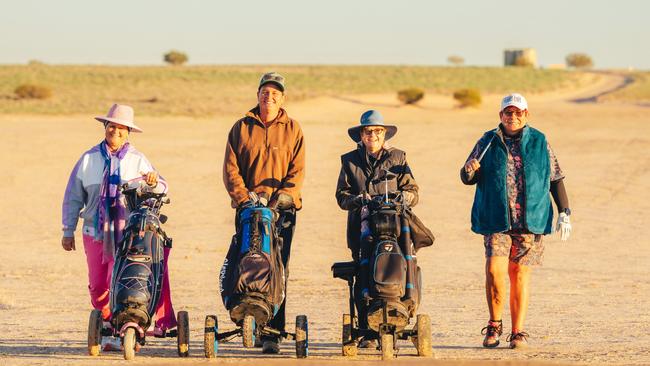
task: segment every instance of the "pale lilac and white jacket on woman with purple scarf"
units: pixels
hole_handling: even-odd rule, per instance
[[[111,156],[111,159],[118,160],[116,156]],[[138,178],[142,176],[142,173],[154,171],[149,160],[143,153],[136,150],[133,145],[128,147],[126,155],[119,161],[119,164],[121,183]],[[99,209],[103,172],[104,158],[99,145],[81,155],[74,169],[72,169],[68,186],[65,189],[65,196],[63,197],[64,237],[74,236],[77,222],[81,217],[84,220],[83,234],[93,236],[96,240],[102,240],[103,233],[95,232],[95,218]],[[159,176],[158,181],[163,184],[158,184],[154,191],[166,190],[167,183],[164,179]],[[124,196],[120,195],[119,199],[124,200]]]

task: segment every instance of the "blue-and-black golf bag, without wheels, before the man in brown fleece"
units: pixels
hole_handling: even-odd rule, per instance
[[[241,325],[251,314],[267,324],[284,300],[282,238],[275,213],[259,202],[238,210],[233,236],[219,275],[219,291],[230,318]]]

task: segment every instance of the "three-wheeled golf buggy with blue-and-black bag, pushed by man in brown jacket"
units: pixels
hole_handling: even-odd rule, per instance
[[[282,227],[277,213],[251,194],[252,204],[237,213],[237,233],[233,236],[219,276],[221,298],[236,328],[220,331],[216,315],[205,318],[205,357],[216,357],[219,343],[242,337],[245,348],[261,347],[265,336],[296,342],[296,356],[309,351],[307,316],[296,317],[295,333],[270,325],[285,296],[282,264]]]

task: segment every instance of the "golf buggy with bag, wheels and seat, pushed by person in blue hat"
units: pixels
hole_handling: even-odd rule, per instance
[[[377,339],[384,360],[394,357],[399,339],[411,340],[419,356],[433,353],[429,316],[418,314],[415,325],[408,327],[421,299],[422,279],[407,210],[399,193],[365,202],[361,208],[359,260],[332,265],[334,278],[346,281],[350,294],[349,312],[343,314],[344,356],[357,355],[362,338]],[[355,281],[362,289],[357,291],[361,299],[355,299]],[[367,309],[367,329],[359,327],[355,301]]]

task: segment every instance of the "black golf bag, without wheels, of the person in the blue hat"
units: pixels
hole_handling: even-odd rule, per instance
[[[374,199],[361,209],[359,281],[373,330],[384,322],[384,306],[388,322],[401,329],[420,304],[422,277],[407,209],[394,199]]]

